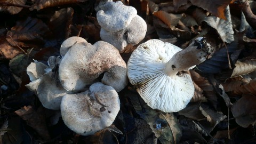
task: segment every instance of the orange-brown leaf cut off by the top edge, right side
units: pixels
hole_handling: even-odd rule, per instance
[[[219,17],[221,19],[226,19],[225,16],[225,9],[226,7],[232,3],[234,0],[209,0],[209,1],[204,1],[204,0],[190,0],[190,2],[193,5],[196,5],[198,7],[201,7],[216,17]]]

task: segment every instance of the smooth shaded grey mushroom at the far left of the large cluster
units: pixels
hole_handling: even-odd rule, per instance
[[[67,91],[55,84],[54,73],[51,71],[42,75],[36,81],[26,85],[30,91],[36,91],[42,105],[48,109],[59,110],[60,102]]]

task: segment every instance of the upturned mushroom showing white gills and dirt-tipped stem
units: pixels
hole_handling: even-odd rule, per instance
[[[127,63],[127,75],[143,100],[153,109],[166,113],[185,108],[194,95],[194,85],[188,74],[206,60],[212,52],[209,43],[199,37],[185,50],[158,39],[140,44]]]

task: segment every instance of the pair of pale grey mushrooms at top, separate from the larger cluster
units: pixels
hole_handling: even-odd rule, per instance
[[[123,51],[128,44],[138,44],[146,35],[147,24],[137,15],[137,10],[122,2],[106,2],[99,5],[97,20],[101,26],[102,41]]]

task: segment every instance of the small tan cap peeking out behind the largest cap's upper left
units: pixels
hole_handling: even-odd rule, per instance
[[[67,51],[70,49],[71,46],[77,43],[87,42],[84,38],[73,36],[67,38],[65,41],[62,42],[60,47],[60,55],[63,57]]]

